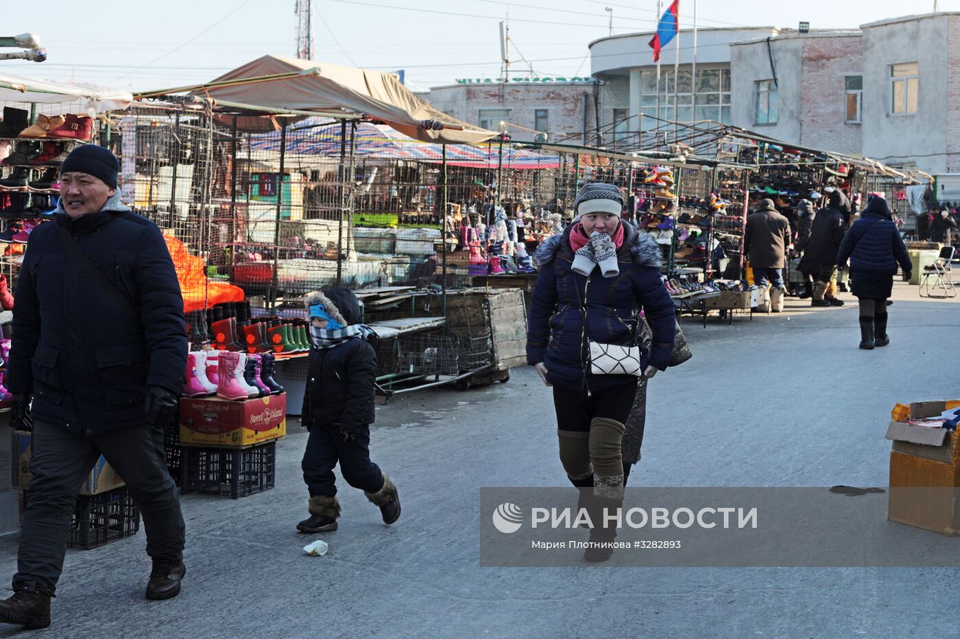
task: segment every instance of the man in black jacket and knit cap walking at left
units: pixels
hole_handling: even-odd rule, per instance
[[[33,473],[13,596],[0,621],[50,624],[77,493],[104,455],[143,515],[148,599],[180,592],[183,517],[163,455],[188,350],[173,260],[155,224],[117,193],[119,163],[84,145],[60,167],[55,221],[30,236],[16,288],[8,389],[33,394]]]

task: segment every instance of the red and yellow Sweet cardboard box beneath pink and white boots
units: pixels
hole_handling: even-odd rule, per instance
[[[287,434],[287,395],[180,400],[180,444],[245,447]]]

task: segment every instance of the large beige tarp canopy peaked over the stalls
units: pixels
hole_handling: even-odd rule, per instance
[[[337,111],[382,120],[408,137],[424,142],[465,144],[484,142],[498,135],[446,115],[415,95],[392,73],[326,64],[316,60],[264,56],[212,81],[221,83],[317,69],[272,82],[207,87],[193,95],[223,102],[273,108],[277,111]],[[462,128],[434,129],[433,125]]]

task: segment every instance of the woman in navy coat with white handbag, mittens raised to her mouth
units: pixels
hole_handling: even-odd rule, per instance
[[[660,279],[660,246],[620,219],[623,197],[612,184],[584,186],[574,202],[577,217],[545,240],[534,257],[540,272],[527,329],[527,361],[553,387],[560,461],[570,483],[615,508],[625,475],[622,440],[639,375],[652,378],[670,362],[676,319]],[[643,309],[653,334],[639,348],[636,374],[594,374],[589,343],[638,346]],[[596,510],[594,510],[596,513]],[[591,541],[612,540],[591,516]],[[589,547],[590,561],[609,548]]]

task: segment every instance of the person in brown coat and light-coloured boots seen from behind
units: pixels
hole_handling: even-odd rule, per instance
[[[786,251],[792,246],[790,221],[780,215],[773,200],[761,200],[759,207],[747,218],[743,246],[750,256],[754,270],[754,283],[770,291],[770,310],[780,313],[783,309],[783,267],[786,266]]]

